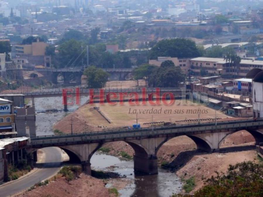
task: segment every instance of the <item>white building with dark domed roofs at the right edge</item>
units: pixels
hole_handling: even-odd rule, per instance
[[[252,79],[253,117],[263,118],[263,69],[250,70],[247,78]]]

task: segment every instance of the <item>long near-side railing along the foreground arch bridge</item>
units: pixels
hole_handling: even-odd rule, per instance
[[[247,127],[255,127],[255,126],[263,126],[263,122],[250,122],[250,123],[238,123],[238,124],[215,125],[215,126],[204,126],[204,127],[178,128],[178,129],[170,129],[170,130],[156,130],[156,131],[147,131],[147,132],[71,137],[71,138],[61,138],[61,139],[51,139],[51,140],[33,140],[31,141],[31,145],[37,146],[37,145],[48,145],[48,144],[91,142],[97,140],[116,140],[123,138],[153,137],[153,136],[172,135],[172,134],[185,135],[187,133],[204,132],[208,130],[214,131],[214,130],[222,130],[222,129],[247,128]]]

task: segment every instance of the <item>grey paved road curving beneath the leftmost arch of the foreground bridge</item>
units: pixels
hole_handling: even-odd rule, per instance
[[[14,195],[32,185],[55,175],[61,166],[62,156],[61,149],[56,147],[47,147],[42,149],[45,153],[45,159],[42,167],[32,175],[20,179],[16,182],[0,186],[0,197]]]

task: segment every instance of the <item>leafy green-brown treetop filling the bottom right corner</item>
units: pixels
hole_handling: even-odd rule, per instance
[[[194,195],[174,194],[172,197],[239,197],[263,196],[263,165],[251,161],[230,165],[226,174],[212,176]]]

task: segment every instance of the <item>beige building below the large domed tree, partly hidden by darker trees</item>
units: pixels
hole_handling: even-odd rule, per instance
[[[183,73],[188,74],[190,69],[190,60],[187,58],[177,58],[177,57],[158,57],[157,60],[149,60],[149,64],[160,67],[161,64],[167,60],[174,63],[175,66],[179,66]]]

